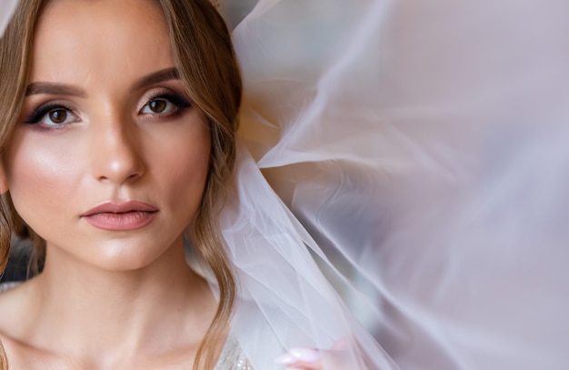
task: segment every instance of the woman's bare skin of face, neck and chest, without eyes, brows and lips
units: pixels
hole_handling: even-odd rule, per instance
[[[174,67],[162,14],[150,1],[55,0],[33,52],[30,83],[76,91],[26,96],[2,158],[0,187],[47,245],[44,272],[0,295],[11,369],[188,368],[216,309],[182,238],[210,139],[195,107],[149,108],[155,93],[184,96],[176,79],[141,85]],[[24,123],[47,102],[65,105],[52,115],[63,124]],[[108,231],[82,216],[128,200],[153,205],[153,221]]]

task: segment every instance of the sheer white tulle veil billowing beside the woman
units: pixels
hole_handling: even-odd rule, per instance
[[[255,369],[342,339],[349,369],[567,368],[569,3],[220,3]]]

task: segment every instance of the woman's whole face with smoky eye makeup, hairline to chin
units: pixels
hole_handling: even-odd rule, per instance
[[[194,219],[209,153],[154,2],[49,3],[3,158],[15,208],[45,238],[48,258],[151,264]]]

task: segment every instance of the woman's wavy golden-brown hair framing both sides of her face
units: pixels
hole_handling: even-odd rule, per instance
[[[210,265],[219,285],[219,305],[198,348],[194,369],[212,369],[235,302],[235,278],[217,225],[224,186],[235,165],[235,131],[242,83],[231,38],[223,18],[207,0],[154,0],[170,32],[175,65],[187,94],[209,124],[212,148],[193,247]],[[0,39],[0,155],[10,140],[25,97],[35,24],[49,0],[22,0]],[[35,261],[45,255],[45,241],[15,211],[9,192],[0,205],[0,271],[4,271],[12,233],[31,237]],[[4,363],[3,363],[4,361]],[[5,355],[0,345],[0,366]],[[5,368],[2,366],[2,368]]]

